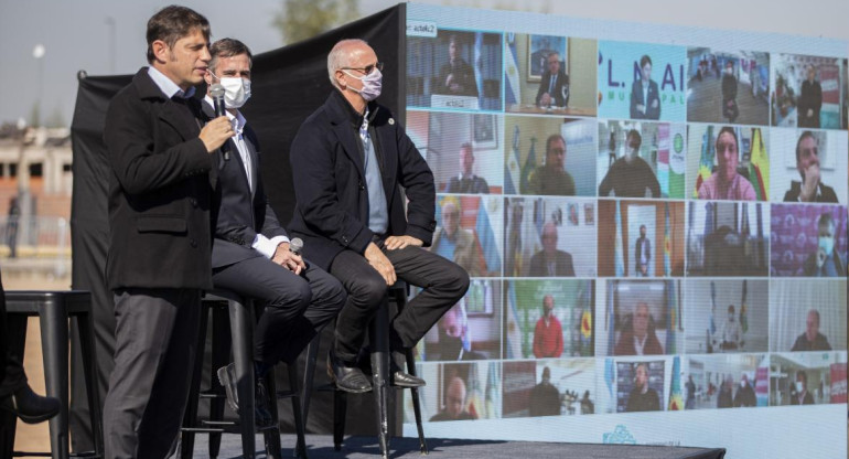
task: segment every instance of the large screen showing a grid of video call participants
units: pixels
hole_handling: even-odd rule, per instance
[[[418,4],[408,9],[408,26],[430,23],[439,31],[455,35],[454,39],[439,36],[443,36],[440,41],[445,46],[451,46],[452,41],[454,46],[459,43],[460,55],[471,64],[476,56],[485,54],[480,47],[484,40],[475,36],[477,32],[501,34],[503,47],[502,72],[497,78],[492,77],[492,72],[483,75],[485,72],[475,73],[472,68],[471,79],[480,96],[476,103],[469,95],[456,96],[455,100],[450,94],[440,95],[439,106],[421,103],[421,98],[410,104],[408,97],[408,134],[437,179],[438,233],[443,237],[451,232],[456,235],[448,250],[441,247],[442,255],[453,254],[455,261],[461,266],[465,264],[473,273],[473,284],[490,282],[495,286],[490,291],[501,292],[499,299],[490,299],[491,305],[486,305],[479,288],[475,298],[464,299],[452,309],[448,314],[450,323],[434,325],[429,338],[422,340],[419,350],[427,359],[419,367],[432,376],[429,382],[436,382],[423,393],[426,418],[615,414],[627,412],[628,406],[631,410],[649,412],[782,406],[792,405],[794,396],[798,403],[807,403],[794,388],[795,380],[804,378],[816,385],[810,391],[814,404],[842,404],[845,413],[848,168],[845,107],[849,93],[845,43],[777,34],[742,34],[746,40],[741,40],[738,32],[657,25],[651,26],[652,34],[645,34],[649,30],[647,24],[527,13],[479,13]],[[470,18],[479,15],[485,18],[480,20],[484,26],[470,25],[475,24]],[[440,21],[422,21],[428,17],[439,17]],[[531,20],[533,30],[527,30],[529,21],[523,19]],[[443,29],[439,29],[441,24]],[[654,64],[648,72],[649,79],[657,78],[659,93],[665,90],[667,76],[675,81],[675,90],[684,88],[683,104],[676,98],[680,107],[667,109],[660,105],[656,117],[647,116],[645,113],[651,110],[645,106],[636,107],[642,110],[635,115],[630,100],[632,93],[649,100],[646,105],[651,107],[651,84],[640,88],[642,90],[634,89],[630,83],[622,85],[627,93],[627,97],[622,96],[624,102],[617,102],[622,106],[606,109],[604,100],[598,102],[603,99],[598,87],[604,79],[617,83],[617,75],[633,72],[634,84],[640,84],[636,78],[641,76],[642,55],[626,56],[634,63],[622,71],[615,61],[605,62],[599,53],[610,47],[615,57],[626,54],[628,47],[640,49],[640,43],[628,43],[632,39],[624,36],[626,31],[641,36],[638,42],[645,42],[643,49],[677,49],[678,55],[660,58],[646,54]],[[599,36],[600,32],[605,36]],[[465,39],[458,40],[456,35]],[[673,40],[662,40],[665,35]],[[546,41],[546,38],[562,40]],[[408,43],[410,39],[408,32]],[[417,43],[427,39],[416,36]],[[657,44],[649,44],[652,41]],[[591,77],[581,76],[577,65],[587,62],[588,42],[594,42],[593,55],[599,62]],[[493,43],[491,38],[488,43]],[[539,57],[539,51],[546,46],[557,56],[531,62],[531,56],[536,53]],[[759,51],[764,49],[775,51]],[[449,58],[450,53],[438,51],[434,55]],[[823,73],[824,92],[828,95],[824,96],[819,111],[820,119],[828,118],[828,121],[820,120],[820,126],[812,127],[810,121],[797,119],[789,125],[786,94],[800,92],[802,77],[795,84],[783,82],[784,95],[775,96],[775,66],[793,62],[795,76],[800,74],[796,66],[827,62],[829,58],[823,57],[827,54],[840,56],[830,60],[838,62],[837,71],[831,65]],[[410,53],[407,57],[413,58]],[[407,68],[411,65],[415,64],[408,63]],[[550,81],[555,70],[569,76],[568,90],[557,87],[560,78]],[[698,77],[701,79],[696,88]],[[728,87],[737,84],[738,96],[731,105],[723,104],[723,78]],[[817,71],[814,81],[819,79]],[[544,81],[548,81],[547,88],[554,92],[548,106],[536,100],[539,93],[547,93],[540,87]],[[579,88],[585,92],[588,81],[597,85],[590,94],[592,97],[572,92]],[[806,86],[808,93],[810,85]],[[501,99],[495,104],[499,108],[491,109],[493,103],[483,99],[492,95],[495,87],[499,89]],[[518,95],[511,96],[514,87],[518,88]],[[563,102],[566,94],[569,102]],[[837,104],[834,104],[835,94]],[[561,100],[557,100],[558,96]],[[696,96],[701,97],[690,104],[690,97]],[[798,98],[800,94],[795,96]],[[781,104],[774,104],[780,97],[783,97]],[[593,104],[587,104],[588,99]],[[667,94],[662,102],[666,104],[669,99]],[[797,105],[798,100],[793,104]],[[570,105],[577,108],[571,109]],[[783,124],[773,120],[773,111],[780,114]],[[722,129],[726,126],[732,128],[731,132]],[[559,151],[552,151],[551,163],[562,163],[562,167],[549,170],[546,169],[548,150],[560,149],[557,136],[565,140],[566,158],[559,159]],[[720,136],[727,141],[717,142]],[[726,148],[731,138],[738,154],[733,161],[728,158],[720,161],[717,147],[722,143]],[[554,148],[549,148],[552,143]],[[638,146],[631,148],[631,143]],[[806,164],[802,164],[799,154],[809,157],[812,148],[818,150],[814,150],[815,154],[819,153],[816,172],[825,185],[817,195],[832,199],[831,203],[800,204],[788,199],[794,193],[797,195],[803,185]],[[631,158],[626,158],[628,154]],[[625,166],[642,160],[645,167],[638,172],[634,172],[636,168],[614,168],[626,159],[630,161]],[[576,164],[580,164],[577,172],[572,169]],[[709,193],[699,195],[705,182],[718,183],[723,169],[737,179],[737,186],[724,194],[720,186],[713,186]],[[563,170],[571,175],[561,180],[569,186],[560,182],[557,186],[546,186],[539,179],[534,180],[535,175],[562,179]],[[619,177],[638,174],[646,179],[646,184],[626,183],[620,186],[621,195],[615,192],[602,195],[601,185],[611,170]],[[624,175],[620,171],[625,171]],[[481,209],[485,216],[477,212]],[[445,221],[444,211],[456,216]],[[818,237],[818,221],[824,214],[829,214],[825,220],[830,223],[824,226],[826,233],[832,226],[831,247],[832,254],[837,254],[830,258],[842,258],[843,275],[815,280],[817,274],[809,268],[817,267],[812,256],[819,248],[819,239],[824,239]],[[644,243],[636,245],[644,227],[652,252],[647,263],[638,259]],[[583,238],[576,241],[576,234]],[[551,256],[546,257],[546,243],[550,245],[551,241],[555,241],[548,250]],[[591,258],[594,260],[585,261]],[[726,258],[733,261],[724,261]],[[835,275],[835,269],[839,271],[839,265],[834,269],[820,267],[820,274]],[[578,292],[587,290],[580,286],[588,282],[592,284],[592,295]],[[643,289],[646,293],[640,295],[646,301],[628,301],[617,288]],[[652,293],[653,289],[657,291]],[[776,292],[781,292],[781,298],[776,298]],[[815,299],[810,300],[812,297]],[[651,305],[641,305],[645,302]],[[800,302],[807,305],[802,307]],[[535,337],[547,303],[554,305],[552,317],[562,330],[557,356],[546,356],[545,350],[540,350],[546,348],[542,344],[551,338],[550,333],[540,332],[545,337],[539,342]],[[646,317],[647,323],[644,323]],[[810,322],[817,321],[819,324],[812,327]],[[549,327],[552,322],[549,321]],[[813,328],[818,331],[810,333],[813,340],[806,341]],[[496,332],[496,329],[499,330]],[[651,352],[640,355],[632,350],[634,345],[617,346],[623,334],[632,338],[635,330],[642,332],[643,329],[652,339],[642,343],[642,351],[649,349]],[[476,337],[483,337],[481,345],[476,344]],[[637,343],[638,340],[635,344],[640,348]],[[625,353],[616,352],[617,348]],[[773,355],[777,363],[771,362]],[[817,360],[817,355],[820,362],[806,363]],[[462,370],[452,370],[463,364]],[[641,397],[642,404],[627,403],[628,394],[637,385],[637,371],[644,372],[637,370],[641,364],[649,366],[648,387],[658,394],[657,405],[651,396]],[[541,395],[546,391],[537,386],[544,378],[569,380],[571,376],[566,376],[570,374],[569,369],[581,369],[579,373],[584,376],[574,380],[573,387],[556,383],[559,413],[540,412],[539,401],[546,399]],[[791,373],[786,369],[791,369]],[[807,369],[810,371],[805,372]],[[620,370],[622,374],[616,376]],[[782,376],[781,371],[786,374]],[[461,382],[456,382],[458,375],[463,376]],[[696,387],[694,401],[687,397],[689,376],[694,376]],[[734,393],[740,392],[737,388],[743,386],[743,376],[749,384],[740,399],[734,401]],[[724,387],[729,380],[730,402],[726,399]],[[451,417],[447,401],[459,392],[465,396],[465,410],[456,414],[460,417]],[[719,394],[722,394],[721,403]],[[407,398],[406,405],[409,403]],[[470,409],[473,413],[468,413]],[[411,421],[410,415],[411,409],[407,409],[405,423]],[[469,423],[462,425],[466,427],[452,431],[453,436],[464,431],[466,438],[471,438],[470,435],[486,437]],[[597,430],[590,428],[590,431]],[[705,441],[691,433],[675,435],[695,442]],[[577,439],[601,441],[601,434]]]

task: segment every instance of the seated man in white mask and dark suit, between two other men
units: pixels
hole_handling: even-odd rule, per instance
[[[235,136],[216,158],[218,181],[212,200],[212,273],[215,288],[234,291],[266,305],[255,331],[256,417],[270,421],[262,376],[276,363],[291,363],[312,338],[333,320],[345,302],[345,290],[333,276],[300,256],[294,239],[268,204],[259,174],[259,143],[239,108],[250,97],[250,50],[238,40],[222,39],[209,49],[204,113],[223,111]],[[219,94],[223,93],[223,94]],[[213,97],[217,96],[217,100]],[[215,111],[214,111],[215,110]],[[235,367],[218,370],[230,407],[235,401]]]

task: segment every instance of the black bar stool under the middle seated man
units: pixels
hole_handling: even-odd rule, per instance
[[[298,434],[295,453],[307,458],[303,420],[301,418],[300,387],[298,387],[298,366],[288,365],[290,389],[277,392],[275,388],[275,371],[266,375],[266,387],[269,394],[275,394],[270,401],[272,425],[257,427],[254,420],[254,324],[256,323],[256,307],[250,299],[230,292],[216,290],[207,293],[201,309],[201,330],[198,334],[197,355],[195,356],[192,386],[189,403],[183,417],[181,457],[192,458],[195,434],[209,434],[209,457],[216,458],[221,450],[222,434],[241,434],[243,457],[255,457],[255,435],[261,431],[265,437],[266,453],[269,458],[281,458],[280,428],[278,425],[277,398],[291,397],[294,413],[294,424]],[[201,393],[203,374],[203,351],[206,342],[206,324],[213,314],[212,337],[212,381],[209,389]],[[260,312],[261,313],[261,312]],[[226,323],[229,321],[229,333]],[[226,394],[215,372],[229,362],[229,349],[233,346],[233,361],[236,369],[237,393],[239,399],[239,420],[227,421],[224,418]],[[209,418],[197,419],[200,398],[209,398]]]

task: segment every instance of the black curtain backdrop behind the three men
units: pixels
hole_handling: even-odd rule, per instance
[[[333,90],[326,71],[327,53],[337,41],[343,39],[367,41],[377,53],[378,60],[386,63],[380,103],[393,110],[398,119],[404,119],[401,103],[404,100],[402,82],[406,74],[405,31],[406,6],[401,3],[313,39],[254,57],[252,96],[243,113],[259,137],[264,161],[260,164],[260,173],[271,206],[282,222],[291,218],[294,209],[292,171],[289,166],[289,148],[292,139],[301,122],[321,106]],[[112,295],[105,285],[109,232],[107,195],[111,172],[106,160],[103,128],[109,100],[120,88],[129,84],[132,75],[80,77],[71,127],[74,153],[71,210],[72,287],[92,291],[101,403],[108,388],[109,373],[114,367],[115,349]],[[327,328],[322,334],[322,351],[316,371],[318,384],[326,382],[324,357],[331,339],[332,331]],[[86,451],[93,449],[93,440],[87,421],[85,380],[76,335],[72,337],[72,349],[73,449]],[[301,370],[303,359],[304,355],[299,362]],[[281,378],[284,373],[278,371],[278,378]],[[205,365],[204,376],[205,381],[209,381],[208,364]],[[287,386],[288,384],[283,381],[278,382],[278,387]],[[332,431],[333,412],[330,394],[330,392],[312,392],[308,431]],[[376,429],[370,396],[350,397],[348,404],[347,433],[374,435]],[[280,408],[282,428],[293,430],[290,404],[280,404]],[[202,405],[201,412],[206,412],[205,405]]]

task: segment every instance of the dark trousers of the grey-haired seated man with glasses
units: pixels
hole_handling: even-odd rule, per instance
[[[420,247],[398,250],[381,249],[395,267],[399,279],[423,290],[391,319],[389,339],[394,349],[412,348],[469,289],[469,274],[451,260]],[[352,362],[368,330],[375,312],[387,301],[384,278],[362,255],[343,250],[330,267],[348,292],[345,307],[336,320],[336,356]]]

